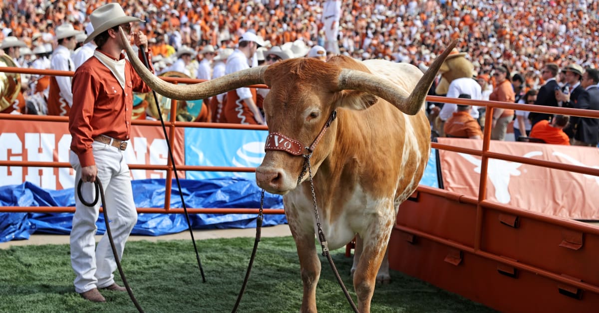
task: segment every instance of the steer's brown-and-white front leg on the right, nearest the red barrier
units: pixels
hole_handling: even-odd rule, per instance
[[[362,236],[362,255],[358,268],[353,273],[353,287],[358,296],[358,310],[370,312],[370,300],[376,285],[377,272],[385,257],[389,236],[394,223],[394,215],[385,214],[385,209],[377,209],[378,216],[373,220]],[[389,215],[389,216],[385,216]]]

